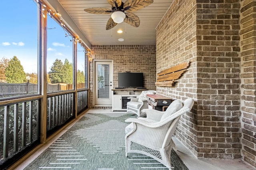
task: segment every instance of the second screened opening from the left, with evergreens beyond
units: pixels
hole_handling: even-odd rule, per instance
[[[47,92],[73,90],[73,38],[53,18],[46,29]]]

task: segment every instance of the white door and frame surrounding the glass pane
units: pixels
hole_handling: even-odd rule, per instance
[[[97,69],[97,63],[104,63],[106,62],[106,64],[110,64],[110,68],[109,68],[109,80],[110,80],[110,84],[109,84],[109,100],[105,100],[106,103],[101,103],[101,104],[98,104],[96,102],[97,100],[97,81],[98,81],[98,78],[95,78],[96,77],[96,69]],[[96,105],[99,105],[99,106],[111,106],[112,105],[112,89],[113,89],[113,60],[111,59],[95,59],[93,60],[93,105],[96,106]],[[98,101],[98,100],[97,100]]]

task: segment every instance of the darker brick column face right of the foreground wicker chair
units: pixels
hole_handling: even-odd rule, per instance
[[[239,0],[197,2],[198,158],[240,158]]]

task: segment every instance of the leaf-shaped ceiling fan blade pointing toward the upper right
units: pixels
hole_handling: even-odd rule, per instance
[[[124,2],[124,10],[126,12],[134,12],[152,3],[153,0],[127,0],[126,2]]]

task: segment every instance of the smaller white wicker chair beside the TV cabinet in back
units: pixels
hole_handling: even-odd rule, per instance
[[[137,97],[129,97],[128,99],[130,99],[130,102],[127,102],[127,112],[135,113],[140,116],[142,109],[148,109],[147,94],[156,94],[156,91],[144,90]]]

